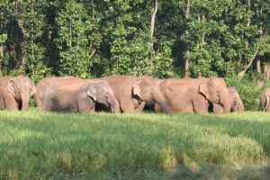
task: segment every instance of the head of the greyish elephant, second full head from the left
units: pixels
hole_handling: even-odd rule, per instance
[[[112,89],[106,82],[89,85],[86,94],[91,97],[94,102],[103,104],[109,111],[120,112]]]

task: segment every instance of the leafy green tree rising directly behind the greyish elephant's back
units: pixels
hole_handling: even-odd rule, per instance
[[[89,20],[84,4],[74,0],[64,4],[64,8],[58,13],[59,29],[56,42],[60,58],[60,75],[90,76],[88,69],[92,66],[90,59],[93,55],[89,54],[91,41],[88,37],[92,29]]]

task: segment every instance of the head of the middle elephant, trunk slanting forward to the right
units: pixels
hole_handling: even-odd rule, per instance
[[[164,112],[169,112],[166,99],[161,93],[159,86],[154,79],[148,76],[143,76],[142,79],[132,85],[132,95],[139,102],[143,101],[146,104],[158,103]]]

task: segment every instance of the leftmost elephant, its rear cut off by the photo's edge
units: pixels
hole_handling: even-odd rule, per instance
[[[0,109],[27,110],[31,95],[36,92],[28,76],[0,77]]]

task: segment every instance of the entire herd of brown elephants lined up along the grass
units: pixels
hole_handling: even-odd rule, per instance
[[[28,76],[0,77],[0,109],[26,110],[31,96],[42,112],[244,112],[235,87],[220,77],[155,79],[106,76],[81,79],[52,76],[37,85]],[[261,97],[270,112],[270,88]]]

